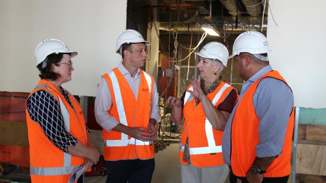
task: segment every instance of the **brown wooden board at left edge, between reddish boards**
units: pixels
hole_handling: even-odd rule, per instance
[[[0,144],[28,146],[27,123],[0,121]]]

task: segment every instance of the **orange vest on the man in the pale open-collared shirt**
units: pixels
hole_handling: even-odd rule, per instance
[[[118,68],[110,70],[103,77],[107,81],[112,96],[112,106],[108,113],[123,125],[147,128],[153,95],[153,77],[140,69],[137,100]],[[105,160],[150,159],[154,157],[152,141],[141,141],[114,130],[103,129],[102,134]]]

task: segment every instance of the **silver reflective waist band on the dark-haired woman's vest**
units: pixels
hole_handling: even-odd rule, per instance
[[[64,175],[72,174],[83,165],[66,166],[66,167],[30,167],[30,172],[33,175]]]

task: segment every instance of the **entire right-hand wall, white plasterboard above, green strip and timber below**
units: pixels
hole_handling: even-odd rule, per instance
[[[324,10],[322,0],[272,0],[267,39],[270,62],[291,86],[300,107],[296,182],[325,182],[326,96]],[[273,22],[272,14],[278,26]]]

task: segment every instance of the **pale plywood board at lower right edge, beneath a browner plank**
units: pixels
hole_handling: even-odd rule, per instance
[[[326,146],[297,144],[296,172],[326,176]]]

